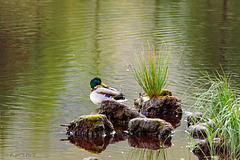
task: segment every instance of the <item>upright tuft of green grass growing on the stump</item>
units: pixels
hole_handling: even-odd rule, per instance
[[[166,85],[170,47],[162,44],[159,50],[148,43],[148,58],[144,50],[142,55],[136,54],[136,65],[131,64],[131,73],[144,92],[151,98],[161,95]]]

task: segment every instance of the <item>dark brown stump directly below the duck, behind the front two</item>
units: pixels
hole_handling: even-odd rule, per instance
[[[127,125],[133,118],[145,118],[145,116],[139,113],[135,108],[113,100],[103,101],[101,103],[99,113],[106,115],[112,123],[116,123],[118,125]]]

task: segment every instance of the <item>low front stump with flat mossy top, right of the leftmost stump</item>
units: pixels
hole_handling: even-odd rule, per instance
[[[158,118],[134,118],[128,124],[130,135],[153,136],[165,140],[171,138],[173,127]]]

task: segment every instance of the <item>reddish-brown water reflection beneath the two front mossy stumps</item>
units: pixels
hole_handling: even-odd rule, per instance
[[[128,143],[134,148],[144,148],[151,150],[159,150],[171,147],[172,137],[161,139],[155,136],[133,136],[128,135],[126,126],[114,126],[115,134],[107,136],[68,136],[67,139],[61,139],[61,141],[69,141],[79,149],[84,149],[90,153],[101,153],[110,144],[119,143],[128,139]]]

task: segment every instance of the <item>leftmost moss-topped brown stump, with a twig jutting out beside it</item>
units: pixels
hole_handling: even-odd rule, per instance
[[[105,115],[83,115],[67,126],[67,135],[98,137],[114,131]]]

